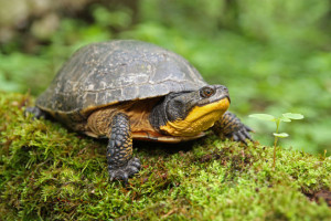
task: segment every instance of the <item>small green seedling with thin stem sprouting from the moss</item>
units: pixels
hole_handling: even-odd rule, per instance
[[[276,165],[276,149],[277,149],[278,138],[286,138],[286,137],[289,136],[286,133],[279,133],[280,122],[287,122],[287,123],[289,123],[289,122],[291,122],[291,119],[302,119],[303,115],[301,115],[301,114],[293,114],[293,113],[286,113],[286,114],[282,114],[282,116],[280,116],[280,117],[277,118],[277,117],[275,117],[273,115],[269,115],[269,114],[253,114],[253,115],[249,115],[249,117],[254,117],[254,118],[257,118],[257,119],[267,120],[267,122],[275,122],[276,123],[276,133],[273,134],[275,136],[275,141],[274,141],[274,165],[273,165],[273,168],[275,169],[275,165]]]

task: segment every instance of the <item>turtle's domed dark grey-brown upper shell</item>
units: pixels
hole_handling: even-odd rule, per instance
[[[200,73],[182,56],[150,43],[118,40],[76,51],[36,106],[51,114],[82,114],[204,85]]]

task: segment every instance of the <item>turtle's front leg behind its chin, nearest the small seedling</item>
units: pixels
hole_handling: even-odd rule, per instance
[[[221,138],[229,138],[234,141],[242,141],[247,145],[246,139],[253,141],[249,131],[253,131],[248,126],[244,125],[235,114],[225,112],[214,126],[213,131]]]

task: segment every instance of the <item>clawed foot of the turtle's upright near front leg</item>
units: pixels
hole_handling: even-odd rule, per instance
[[[137,173],[140,170],[140,160],[138,158],[132,158],[127,165],[116,169],[108,167],[110,181],[122,180],[127,185],[129,177]]]

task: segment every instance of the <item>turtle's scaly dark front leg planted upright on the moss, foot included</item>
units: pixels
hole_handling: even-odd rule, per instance
[[[140,160],[132,158],[132,136],[130,120],[119,113],[113,117],[111,131],[107,146],[107,161],[110,181],[114,179],[128,182],[128,178],[140,169]]]

